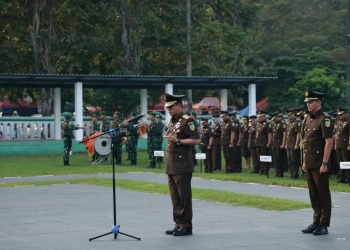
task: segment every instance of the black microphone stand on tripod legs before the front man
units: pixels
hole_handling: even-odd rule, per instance
[[[98,239],[98,238],[101,238],[101,237],[104,237],[104,236],[107,236],[107,235],[110,235],[110,234],[114,234],[114,239],[117,239],[118,237],[118,234],[121,234],[121,235],[125,235],[127,237],[130,237],[130,238],[133,238],[133,239],[136,239],[136,240],[141,240],[141,238],[138,238],[136,236],[133,236],[133,235],[130,235],[130,234],[126,234],[126,233],[123,233],[119,230],[120,228],[120,225],[117,225],[117,208],[116,208],[116,184],[115,184],[115,164],[114,164],[114,138],[117,137],[119,134],[120,134],[120,131],[119,131],[119,128],[117,129],[111,129],[109,130],[108,132],[104,132],[98,136],[94,136],[92,138],[88,138],[86,140],[83,140],[81,141],[80,143],[83,143],[83,142],[86,142],[86,141],[89,141],[89,140],[92,140],[96,137],[100,137],[102,135],[105,135],[105,134],[109,134],[111,136],[111,151],[112,151],[112,169],[113,169],[113,227],[111,229],[111,231],[109,231],[108,233],[104,233],[104,234],[101,234],[101,235],[98,235],[98,236],[95,236],[93,238],[90,238],[89,241],[92,241],[92,240],[95,240],[95,239]]]

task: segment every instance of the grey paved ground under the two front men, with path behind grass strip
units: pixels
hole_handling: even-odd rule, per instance
[[[63,177],[33,179],[50,178]],[[118,174],[118,178],[166,182],[161,174]],[[193,186],[308,200],[305,189],[203,179],[194,179]],[[175,238],[163,233],[173,226],[169,197],[118,189],[118,224],[142,240],[123,235],[113,240],[109,235],[89,242],[113,225],[111,188],[68,184],[0,188],[0,249],[347,249],[350,195],[332,196],[336,207],[327,236],[300,233],[311,221],[311,209],[277,212],[194,201],[194,235]]]

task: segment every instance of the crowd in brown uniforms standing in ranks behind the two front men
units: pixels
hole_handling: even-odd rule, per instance
[[[206,154],[205,172],[221,170],[224,161],[226,173],[240,173],[242,159],[252,174],[269,175],[270,167],[276,177],[297,179],[304,175],[301,167],[302,123],[307,112],[305,107],[295,107],[285,112],[257,115],[238,119],[237,112],[221,111],[210,118],[201,118],[199,145]],[[341,170],[340,162],[350,160],[350,120],[348,111],[338,108],[330,112],[334,123],[334,147],[330,156],[329,173],[337,175],[340,183],[349,183],[349,170]],[[261,162],[260,156],[271,156],[272,162]]]

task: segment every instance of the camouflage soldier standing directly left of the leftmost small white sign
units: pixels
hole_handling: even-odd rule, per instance
[[[156,157],[154,156],[154,151],[157,150],[158,140],[157,139],[157,123],[155,122],[155,113],[151,112],[148,114],[150,123],[147,125],[147,145],[148,145],[148,154],[149,154],[149,168],[156,167]]]

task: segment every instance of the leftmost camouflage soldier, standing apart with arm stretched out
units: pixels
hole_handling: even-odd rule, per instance
[[[64,143],[64,153],[63,153],[63,164],[64,166],[69,166],[69,154],[72,149],[72,138],[73,138],[73,131],[80,129],[79,127],[71,124],[71,119],[73,115],[72,113],[65,113],[64,114],[64,122],[61,126],[62,128],[62,134],[63,134],[63,143]]]

